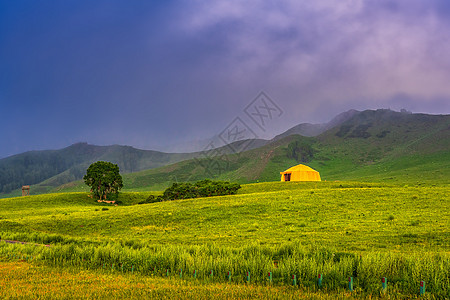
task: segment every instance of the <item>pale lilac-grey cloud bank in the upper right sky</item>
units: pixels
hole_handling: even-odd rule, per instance
[[[415,106],[427,110],[449,94],[442,2],[250,2],[200,5],[187,27],[196,35],[239,23],[227,39],[234,43],[229,55],[241,59],[230,74],[251,84],[261,82],[263,73],[270,79],[267,86],[302,117],[326,115],[330,101],[345,107],[359,99],[376,107],[399,93],[410,94],[422,103]]]

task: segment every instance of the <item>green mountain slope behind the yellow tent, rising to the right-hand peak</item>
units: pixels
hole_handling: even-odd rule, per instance
[[[161,190],[171,182],[204,178],[278,181],[280,171],[298,163],[318,170],[322,180],[448,184],[450,116],[364,111],[317,137],[291,135],[238,154],[126,174],[124,185]]]

